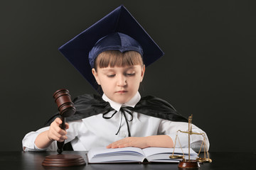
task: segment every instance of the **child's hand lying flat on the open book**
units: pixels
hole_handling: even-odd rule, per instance
[[[107,148],[119,147],[139,147],[143,149],[149,146],[147,145],[146,137],[126,137],[107,146]]]

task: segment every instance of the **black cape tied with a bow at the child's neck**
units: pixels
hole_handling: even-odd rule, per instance
[[[73,120],[81,120],[83,118],[88,118],[92,115],[97,115],[100,113],[102,114],[102,118],[106,118],[104,115],[106,113],[109,113],[110,111],[114,111],[114,109],[110,106],[109,102],[106,102],[102,99],[101,96],[97,96],[95,94],[84,94],[81,96],[78,96],[73,100],[73,103],[75,105],[76,111],[74,115],[71,115],[70,117],[66,118],[66,121],[73,121]],[[171,104],[168,102],[162,100],[161,98],[156,98],[154,96],[145,96],[141,98],[141,100],[137,103],[137,105],[132,107],[125,107],[120,109],[122,111],[122,114],[124,114],[124,118],[127,121],[127,117],[124,112],[129,113],[132,116],[132,112],[142,113],[144,115],[153,116],[155,118],[162,118],[165,120],[171,120],[176,122],[188,122],[186,118],[184,118],[182,115],[180,115]],[[114,112],[114,114],[117,113],[117,111]],[[113,115],[114,115],[113,114]],[[112,115],[112,116],[113,116]],[[107,118],[112,118],[107,117]],[[59,113],[53,115],[45,124],[45,126],[49,126],[50,123],[55,120],[55,118],[60,117]],[[122,122],[122,120],[121,120]],[[121,125],[119,126],[120,129]],[[127,130],[129,132],[129,125],[127,123]],[[118,130],[119,132],[119,130]],[[117,134],[118,134],[117,132]],[[117,135],[116,134],[116,135]],[[64,145],[64,150],[73,150],[72,145],[70,142]]]

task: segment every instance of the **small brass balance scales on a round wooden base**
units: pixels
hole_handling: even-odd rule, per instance
[[[198,169],[200,167],[199,163],[210,163],[210,162],[212,162],[212,159],[209,158],[209,153],[208,153],[208,150],[207,150],[205,134],[204,133],[198,133],[198,132],[192,132],[192,123],[191,123],[192,116],[193,115],[188,117],[188,132],[178,130],[177,133],[176,133],[176,138],[175,138],[175,142],[174,142],[174,150],[175,150],[177,140],[178,140],[178,143],[181,147],[181,142],[178,139],[178,132],[188,134],[188,159],[185,159],[185,155],[184,155],[184,152],[182,150],[182,147],[181,147],[181,151],[183,152],[183,155],[174,155],[174,151],[173,151],[171,156],[169,156],[169,158],[171,158],[171,159],[182,159],[182,161],[180,161],[179,164],[178,164],[179,169]],[[191,154],[190,154],[191,139],[190,139],[190,135],[202,135],[202,137],[203,137],[203,142],[202,142],[201,147],[199,149],[197,159],[191,159]],[[204,157],[199,157],[199,154],[200,154],[202,148],[203,148],[203,151],[204,151]],[[207,154],[207,157],[206,157],[206,154]]]

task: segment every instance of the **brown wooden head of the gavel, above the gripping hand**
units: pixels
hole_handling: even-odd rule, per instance
[[[74,103],[71,101],[68,89],[55,91],[53,98],[55,98],[61,116],[66,118],[75,113]]]

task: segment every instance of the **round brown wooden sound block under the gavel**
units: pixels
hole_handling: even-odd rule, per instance
[[[81,166],[85,165],[85,160],[76,154],[54,154],[47,156],[43,162],[43,166]]]

